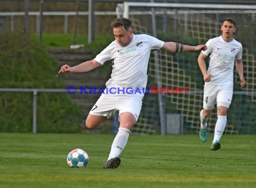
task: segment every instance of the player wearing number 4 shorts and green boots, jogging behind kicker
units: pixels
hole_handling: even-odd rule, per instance
[[[225,18],[221,26],[222,35],[209,39],[207,50],[202,51],[198,57],[198,64],[203,73],[204,92],[203,110],[200,112],[201,141],[207,141],[207,120],[217,103],[217,115],[214,138],[210,150],[221,148],[220,140],[227,123],[227,111],[233,97],[234,62],[240,77],[240,85],[244,87],[246,81],[243,77],[242,44],[233,38],[236,31],[235,21]],[[210,55],[209,67],[206,70],[205,58]]]

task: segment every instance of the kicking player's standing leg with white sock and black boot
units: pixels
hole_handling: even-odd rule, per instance
[[[130,112],[124,112],[120,116],[120,127],[115,139],[112,143],[110,154],[103,168],[117,168],[121,160],[118,157],[127,144],[130,129],[136,123],[134,115]]]

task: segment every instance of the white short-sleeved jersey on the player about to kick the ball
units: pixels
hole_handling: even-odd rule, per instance
[[[163,47],[163,41],[147,34],[133,34],[132,42],[120,46],[116,40],[110,43],[94,60],[104,64],[112,60],[111,78],[107,87],[145,88],[148,76],[148,64],[151,50]]]

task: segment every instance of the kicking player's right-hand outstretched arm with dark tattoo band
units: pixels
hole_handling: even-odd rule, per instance
[[[189,46],[180,43],[174,42],[165,42],[163,44],[163,49],[168,52],[182,52],[182,51],[200,51],[200,50],[207,50],[207,46],[205,44],[198,45],[198,46]]]

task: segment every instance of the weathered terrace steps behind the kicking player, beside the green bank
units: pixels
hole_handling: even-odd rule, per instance
[[[58,68],[64,64],[70,66],[75,66],[84,61],[93,59],[93,51],[85,49],[48,49],[50,56],[58,61]],[[84,110],[84,115],[81,117],[80,125],[84,127],[85,120],[89,111],[92,109],[93,105],[96,103],[100,94],[89,94],[89,89],[86,89],[88,94],[80,94],[80,86],[88,86],[97,88],[105,88],[105,83],[109,78],[109,75],[102,74],[101,70],[94,69],[87,73],[67,73],[67,74],[57,74],[57,76],[62,77],[65,82],[65,87],[75,86],[76,93],[71,94],[72,102],[76,103],[78,106],[82,107]],[[85,133],[110,133],[112,128],[112,119],[106,120],[103,124],[99,125],[97,128],[88,129],[85,128]]]

